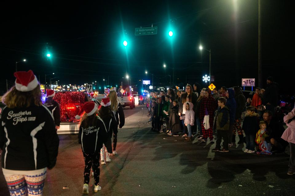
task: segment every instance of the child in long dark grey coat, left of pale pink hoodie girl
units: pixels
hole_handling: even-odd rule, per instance
[[[179,121],[179,115],[178,115],[178,101],[174,100],[172,102],[173,107],[171,109],[171,114],[169,118],[169,126],[171,128],[171,131],[169,131],[168,135],[173,135],[173,136],[179,136],[178,132],[180,131],[180,121]]]

